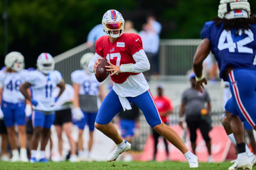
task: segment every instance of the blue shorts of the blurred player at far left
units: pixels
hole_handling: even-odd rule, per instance
[[[1,109],[4,114],[4,123],[6,127],[12,127],[14,123],[17,123],[17,125],[26,125],[24,102],[12,104],[3,101]]]

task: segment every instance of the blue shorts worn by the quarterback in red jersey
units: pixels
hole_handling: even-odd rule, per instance
[[[157,111],[156,102],[152,97],[149,89],[138,97],[126,97],[129,102],[132,102],[141,109],[150,127],[156,127],[162,123],[162,120]],[[108,124],[115,116],[123,109],[118,95],[111,89],[106,98],[100,105],[99,112],[96,117],[96,123],[99,125]]]

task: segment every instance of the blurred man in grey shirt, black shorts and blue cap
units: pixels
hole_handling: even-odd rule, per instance
[[[183,128],[183,114],[186,113],[186,123],[190,132],[190,141],[193,153],[196,153],[196,129],[200,128],[200,132],[204,138],[209,153],[208,162],[212,162],[211,138],[209,137],[211,127],[207,122],[207,119],[211,118],[209,117],[209,113],[211,112],[211,100],[205,89],[204,93],[196,91],[195,76],[196,75],[193,72],[189,75],[191,88],[187,89],[182,94],[182,103],[179,111],[179,124]],[[207,102],[207,109],[205,109],[205,102]]]

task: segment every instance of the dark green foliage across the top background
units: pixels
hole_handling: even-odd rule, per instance
[[[249,0],[255,11],[255,0]],[[200,38],[204,22],[216,17],[216,0],[8,0],[9,51],[22,52],[35,66],[41,52],[56,56],[86,42],[87,35],[109,9],[116,9],[140,30],[149,14],[161,22],[161,38]],[[0,1],[0,13],[4,0]],[[0,66],[4,58],[4,22],[0,22]]]

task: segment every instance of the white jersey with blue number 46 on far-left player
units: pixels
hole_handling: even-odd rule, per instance
[[[3,86],[3,100],[8,103],[16,104],[24,102],[25,97],[20,93],[20,85],[26,81],[28,70],[20,72],[0,72],[0,84]]]

